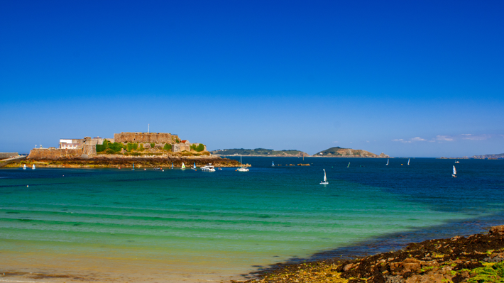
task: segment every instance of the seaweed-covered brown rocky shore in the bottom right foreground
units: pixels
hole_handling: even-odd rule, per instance
[[[353,260],[276,265],[255,279],[231,282],[482,283],[504,282],[504,226],[487,234],[410,243],[406,248]]]

